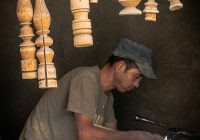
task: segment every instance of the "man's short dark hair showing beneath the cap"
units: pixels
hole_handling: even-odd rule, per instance
[[[128,58],[122,58],[119,56],[115,56],[115,55],[111,55],[108,60],[106,61],[106,64],[109,64],[109,66],[113,66],[113,64],[115,64],[116,62],[119,61],[124,61],[125,64],[127,65],[127,70],[133,66],[137,67],[135,61],[128,59]]]

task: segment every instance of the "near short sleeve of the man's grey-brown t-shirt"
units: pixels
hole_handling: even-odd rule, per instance
[[[67,110],[93,120],[96,112],[95,83],[92,77],[76,76],[71,80]]]

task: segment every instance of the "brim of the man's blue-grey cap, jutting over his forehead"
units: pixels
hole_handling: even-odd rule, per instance
[[[158,79],[158,77],[155,75],[153,68],[148,63],[138,63],[135,62],[137,67],[139,68],[140,72],[149,79]]]

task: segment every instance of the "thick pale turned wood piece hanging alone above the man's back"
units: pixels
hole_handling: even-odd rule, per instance
[[[74,16],[74,20],[72,21],[74,46],[92,46],[92,26],[90,19],[88,19],[88,13],[90,10],[89,0],[70,0],[70,5]]]

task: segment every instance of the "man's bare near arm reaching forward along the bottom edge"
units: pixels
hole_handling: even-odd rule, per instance
[[[164,140],[143,131],[117,131],[94,127],[93,121],[84,115],[75,113],[75,123],[79,140]]]

